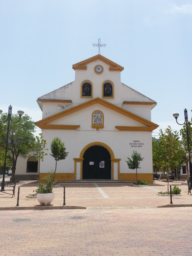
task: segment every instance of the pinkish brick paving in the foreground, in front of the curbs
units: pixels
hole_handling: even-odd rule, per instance
[[[191,256],[188,210],[88,207],[0,211],[0,255]]]

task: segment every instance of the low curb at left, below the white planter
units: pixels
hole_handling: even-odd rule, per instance
[[[75,205],[71,205],[71,206],[36,205],[36,206],[28,206],[28,207],[24,207],[24,206],[0,207],[0,210],[52,210],[52,209],[86,209],[86,207],[85,206],[75,206]]]

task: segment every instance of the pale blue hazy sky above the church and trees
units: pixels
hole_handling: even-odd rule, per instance
[[[172,113],[192,115],[191,30],[191,0],[0,0],[0,108],[40,120],[36,99],[73,81],[100,38],[121,82],[157,102],[151,121],[179,130]]]

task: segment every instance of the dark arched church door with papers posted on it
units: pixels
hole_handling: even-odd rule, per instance
[[[108,150],[102,146],[91,146],[83,154],[83,179],[111,179],[111,163]]]

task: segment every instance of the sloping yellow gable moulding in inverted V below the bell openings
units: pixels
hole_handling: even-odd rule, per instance
[[[40,128],[45,128],[45,125],[47,125],[51,121],[54,121],[54,120],[56,120],[58,118],[61,118],[61,117],[65,116],[65,115],[74,113],[74,112],[76,112],[78,110],[81,110],[81,109],[83,109],[85,107],[91,106],[91,105],[96,104],[96,103],[99,103],[99,104],[101,104],[101,105],[103,105],[105,107],[108,107],[108,108],[110,108],[110,109],[112,109],[112,110],[114,110],[114,111],[116,111],[116,112],[118,112],[120,114],[123,114],[123,115],[125,115],[125,116],[127,116],[127,117],[129,117],[129,118],[131,118],[133,120],[136,120],[136,121],[138,121],[138,122],[148,126],[149,130],[156,129],[158,127],[157,124],[155,124],[155,123],[153,123],[153,122],[151,122],[151,121],[149,121],[149,120],[147,120],[147,119],[145,119],[143,117],[140,117],[140,116],[138,116],[138,115],[136,115],[134,113],[131,113],[131,112],[129,112],[129,111],[127,111],[127,110],[125,110],[125,109],[123,109],[123,108],[121,108],[119,106],[116,106],[116,105],[114,105],[114,104],[112,104],[112,103],[110,103],[110,102],[108,102],[108,101],[106,101],[106,100],[104,100],[102,98],[99,98],[99,97],[93,98],[91,100],[88,100],[86,102],[83,102],[81,104],[73,106],[71,108],[63,110],[63,111],[61,111],[59,113],[53,114],[51,116],[48,116],[48,117],[46,117],[46,118],[44,118],[42,120],[39,120],[39,121],[35,122],[35,124],[38,127],[40,127]],[[127,130],[126,127],[131,127],[131,126],[117,126],[117,129],[121,129],[122,130],[122,128],[119,128],[119,127],[123,127],[123,130]],[[53,128],[53,126],[52,126],[52,128]]]

